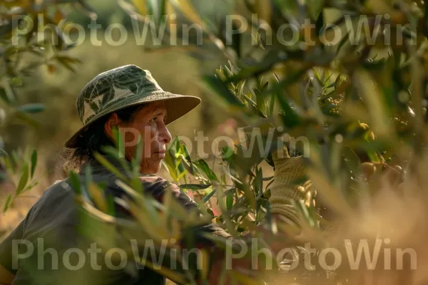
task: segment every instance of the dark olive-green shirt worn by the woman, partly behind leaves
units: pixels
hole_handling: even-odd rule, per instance
[[[115,162],[116,163],[116,162]],[[113,197],[125,197],[126,193],[116,185],[117,177],[96,160],[88,163],[94,182],[104,182],[103,193]],[[120,167],[116,163],[116,167]],[[84,171],[79,174],[84,182]],[[185,209],[198,207],[195,201],[180,191],[180,188],[154,175],[141,177],[144,191],[162,202],[165,191],[175,192],[175,198]],[[0,244],[0,264],[14,274],[13,285],[31,284],[165,284],[165,277],[156,271],[143,267],[131,259],[121,267],[118,252],[111,252],[106,259],[105,250],[95,254],[91,251],[93,240],[81,233],[81,207],[76,203],[70,178],[51,185],[34,204],[25,219]],[[116,213],[127,217],[125,207],[115,203]],[[80,226],[80,227],[79,227]],[[88,227],[88,226],[85,226]],[[86,229],[88,230],[88,229]],[[96,231],[97,229],[89,229]],[[210,249],[214,245],[202,233],[228,238],[229,235],[216,224],[203,224],[190,229],[198,247]],[[104,232],[96,232],[100,237]],[[143,253],[139,253],[141,257]],[[96,260],[93,260],[95,259]],[[111,261],[113,260],[113,261]],[[109,263],[107,263],[109,262]],[[107,266],[109,264],[109,266]],[[175,268],[171,268],[175,270]],[[178,270],[178,269],[177,269]]]

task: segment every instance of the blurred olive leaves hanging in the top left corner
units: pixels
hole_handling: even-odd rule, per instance
[[[41,105],[17,106],[19,98],[16,89],[26,83],[26,77],[34,76],[42,65],[50,72],[54,72],[58,65],[73,71],[73,64],[79,62],[66,54],[73,48],[68,44],[70,39],[63,34],[67,24],[63,11],[66,4],[89,9],[84,1],[57,1],[54,4],[44,1],[3,1],[0,5],[1,99],[2,103],[14,107],[21,120],[28,118],[27,113],[43,110]],[[42,20],[49,28],[40,24]],[[43,29],[39,31],[39,28]]]

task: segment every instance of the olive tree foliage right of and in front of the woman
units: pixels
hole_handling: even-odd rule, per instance
[[[428,14],[423,1],[230,0],[222,1],[221,6],[215,5],[215,9],[207,8],[213,7],[213,1],[119,0],[118,3],[141,23],[166,25],[162,44],[153,44],[146,50],[184,48],[198,59],[223,57],[225,64],[215,75],[205,76],[203,82],[216,98],[222,99],[223,106],[240,120],[240,125],[245,126],[246,138],[258,128],[273,128],[277,136],[287,133],[292,138],[307,138],[309,145],[297,146],[295,155],[305,154],[305,147],[309,147],[308,176],[317,189],[317,201],[309,208],[299,203],[295,203],[295,207],[300,212],[302,229],[310,234],[312,242],[320,244],[320,249],[332,242],[326,242],[322,229],[332,225],[340,229],[334,223],[337,219],[345,221],[348,227],[355,227],[352,234],[346,232],[355,238],[387,236],[391,230],[387,227],[395,232],[404,231],[403,223],[392,218],[396,217],[396,209],[389,208],[387,217],[376,214],[383,213],[384,209],[376,193],[386,184],[388,199],[383,202],[394,201],[397,209],[411,209],[399,201],[407,202],[405,195],[419,197],[418,190],[428,182],[424,147],[427,144]],[[163,17],[172,14],[176,17]],[[235,15],[232,20],[231,14]],[[257,14],[258,19],[252,19],[252,14]],[[302,25],[307,19],[312,28]],[[243,21],[250,28],[234,33]],[[198,24],[202,37],[198,38],[198,31],[186,36],[183,25],[178,25],[183,23]],[[295,25],[297,33],[287,33],[282,29],[285,24]],[[342,32],[333,34],[325,28],[328,24],[335,24]],[[267,25],[270,30],[263,31]],[[362,28],[358,28],[359,25]],[[370,35],[375,31],[377,38],[372,41]],[[182,44],[171,42],[171,34]],[[285,45],[278,34],[284,38],[297,35],[297,40]],[[327,43],[327,38],[337,35],[335,43]],[[198,44],[198,40],[203,44]],[[190,44],[185,44],[187,42]],[[267,141],[265,138],[264,142]],[[173,199],[167,198],[169,204],[164,206],[148,199],[141,194],[138,173],[129,170],[131,178],[118,173],[121,180],[118,186],[133,197],[125,201],[136,221],[130,225],[113,217],[108,201],[99,195],[101,186],[91,185],[89,173],[86,185],[80,185],[73,173],[71,177],[78,201],[100,229],[118,225],[128,229],[129,232],[121,232],[123,236],[119,238],[141,242],[148,238],[158,241],[180,238],[181,229],[201,222],[200,219],[213,219],[234,237],[240,237],[245,232],[254,233],[255,226],[262,221],[270,221],[269,185],[275,179],[264,177],[261,165],[267,163],[275,167],[270,151],[277,145],[268,145],[264,154],[258,152],[257,145],[255,150],[248,150],[246,146],[247,142],[240,141],[233,147],[223,147],[222,158],[215,161],[221,170],[216,171],[205,160],[192,159],[177,139],[170,144],[165,168],[181,189],[196,194],[202,218],[183,212]],[[246,151],[251,155],[245,155]],[[110,153],[113,157],[117,154],[116,150]],[[117,172],[108,162],[101,162]],[[391,170],[388,173],[392,173],[389,175],[392,177],[385,180],[381,170]],[[24,178],[20,180],[28,180]],[[190,183],[193,178],[199,183]],[[425,196],[420,199],[426,206]],[[217,198],[221,212],[215,211],[213,197]],[[362,207],[362,201],[367,200],[372,203],[363,203]],[[363,219],[364,214],[381,222],[384,219],[387,226],[380,227],[379,222],[378,227],[374,227]],[[427,213],[422,212],[422,216],[424,214]],[[406,217],[417,219],[412,215]],[[370,224],[370,229],[365,228],[364,223]],[[272,231],[275,227],[284,227],[270,226]],[[357,232],[361,228],[366,232]],[[96,232],[100,231],[88,234],[100,239]],[[420,232],[421,237],[423,233]],[[412,231],[409,234],[415,235]],[[410,240],[409,237],[403,234],[400,242]],[[142,262],[149,264],[150,261]],[[193,281],[193,275],[188,272],[177,275],[167,268],[161,272],[181,283]],[[290,274],[290,282],[311,284],[315,279],[307,279],[307,275],[315,278],[319,273],[303,272],[298,280],[291,279],[294,276]],[[243,284],[256,284],[238,272],[232,274]],[[330,271],[322,272],[321,276],[331,284],[352,280]],[[284,276],[281,278],[285,280]]]

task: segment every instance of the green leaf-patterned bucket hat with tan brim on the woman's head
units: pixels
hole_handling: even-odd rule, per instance
[[[78,116],[83,127],[65,146],[77,147],[77,138],[91,123],[99,118],[132,105],[154,101],[165,101],[168,112],[166,125],[193,110],[200,104],[200,98],[178,95],[164,91],[150,71],[135,65],[121,66],[98,74],[79,93],[76,99]]]

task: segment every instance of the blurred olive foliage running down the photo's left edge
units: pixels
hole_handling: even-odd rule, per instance
[[[90,9],[84,1],[17,0],[1,1],[0,4],[0,182],[9,180],[16,188],[14,194],[9,194],[2,203],[2,212],[11,207],[16,197],[37,185],[34,180],[37,151],[29,155],[28,151],[18,149],[9,154],[4,150],[1,138],[11,124],[39,127],[32,115],[44,111],[45,106],[41,103],[21,105],[19,89],[28,84],[40,66],[46,66],[53,73],[58,66],[73,71],[73,64],[80,62],[67,56],[73,46],[67,44],[68,38],[61,30],[64,28],[64,5]],[[39,31],[41,18],[50,25],[49,31]]]

